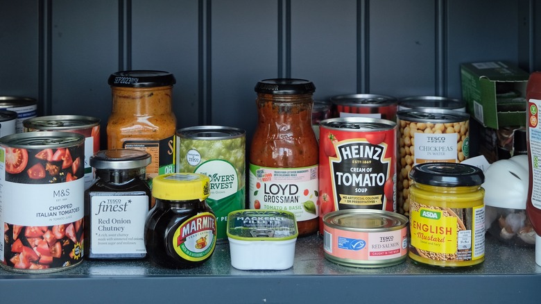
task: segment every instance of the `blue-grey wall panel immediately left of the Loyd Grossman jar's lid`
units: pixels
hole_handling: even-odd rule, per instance
[[[212,124],[243,128],[257,121],[254,87],[278,76],[277,1],[212,1]]]

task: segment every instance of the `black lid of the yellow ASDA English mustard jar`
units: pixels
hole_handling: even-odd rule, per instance
[[[483,171],[470,164],[454,162],[428,162],[416,164],[409,177],[423,185],[437,187],[478,186],[485,181]]]

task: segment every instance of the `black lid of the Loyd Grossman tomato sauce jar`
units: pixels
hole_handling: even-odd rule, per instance
[[[311,81],[295,78],[274,78],[259,81],[255,85],[255,92],[275,95],[310,94],[316,91]]]

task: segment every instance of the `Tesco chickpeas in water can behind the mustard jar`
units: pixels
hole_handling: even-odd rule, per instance
[[[397,113],[397,211],[409,215],[409,172],[425,162],[462,162],[470,157],[470,115],[417,108]]]

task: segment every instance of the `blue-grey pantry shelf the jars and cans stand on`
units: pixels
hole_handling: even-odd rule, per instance
[[[285,271],[234,269],[228,244],[218,244],[194,269],[163,269],[148,260],[85,260],[49,274],[0,270],[2,303],[31,303],[60,291],[78,303],[538,303],[540,286],[534,249],[506,246],[490,235],[485,262],[467,269],[424,267],[409,259],[386,268],[345,267],[325,260],[323,240],[314,235],[298,239],[293,267]]]

